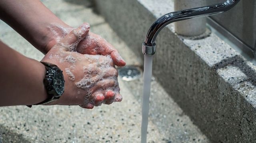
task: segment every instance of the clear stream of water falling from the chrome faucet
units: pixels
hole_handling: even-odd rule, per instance
[[[146,143],[147,141],[152,61],[153,61],[153,56],[147,56],[147,55],[144,56],[144,73],[143,73],[144,86],[143,86],[143,97],[142,97],[141,143]]]

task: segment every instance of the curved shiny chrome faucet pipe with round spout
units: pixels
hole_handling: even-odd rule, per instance
[[[181,10],[177,12],[171,12],[158,18],[150,29],[142,45],[142,53],[145,55],[154,55],[156,52],[156,37],[158,33],[168,24],[181,20],[187,20],[192,18],[211,16],[214,14],[220,14],[233,8],[240,0],[226,0],[223,4],[215,4],[212,6],[204,6],[199,8],[191,8],[188,10]]]

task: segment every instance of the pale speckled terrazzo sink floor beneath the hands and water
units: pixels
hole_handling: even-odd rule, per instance
[[[82,22],[113,44],[128,65],[142,66],[142,60],[118,38],[115,32],[92,11],[88,1],[43,0],[57,16],[71,26]],[[0,39],[30,58],[43,57],[4,22]],[[168,96],[154,78],[150,98],[149,143],[208,143],[208,139]],[[0,136],[4,143],[139,143],[142,78],[121,81],[121,103],[94,109],[78,106],[26,106],[0,108]]]

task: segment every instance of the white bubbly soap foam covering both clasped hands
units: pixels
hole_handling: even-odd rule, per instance
[[[66,34],[68,34],[69,32],[71,32],[72,30],[74,30],[74,35],[79,39],[78,41],[81,40],[84,31],[88,30],[90,28],[89,25],[83,24],[82,26],[80,26],[80,28],[82,28],[82,30],[76,31],[74,30],[74,28],[64,28],[63,26],[58,26],[55,25],[55,27],[52,27],[52,31],[56,33],[56,35],[59,34],[59,31],[61,31],[62,36],[57,36],[56,41],[59,42]],[[56,30],[57,29],[57,30]],[[92,52],[94,53],[98,53],[99,51],[104,51],[104,48],[108,48],[108,50],[111,49],[110,46],[108,46],[107,44],[102,45],[101,40],[104,40],[101,36],[99,36],[98,38],[95,38],[94,36],[91,35],[87,35],[85,38],[86,42],[84,42],[85,44],[83,44],[82,46],[80,46],[80,50],[82,50],[83,48],[89,48],[91,46],[94,46],[93,44],[96,44],[96,47],[92,48]],[[106,43],[106,42],[105,42]],[[70,52],[76,52],[76,48],[78,45],[78,42],[75,42],[73,44],[65,44],[65,43],[59,43],[60,46],[66,48],[68,51]],[[104,48],[103,48],[104,47]],[[56,47],[59,48],[59,47]],[[61,48],[60,48],[61,49]],[[68,78],[72,81],[75,80],[75,76],[74,74],[70,71],[75,69],[75,62],[76,61],[81,61],[81,58],[74,58],[74,56],[72,55],[66,55],[62,52],[62,50],[59,50],[56,54],[52,54],[50,55],[51,58],[55,58],[56,60],[59,60],[60,62],[69,62],[70,68],[65,68],[66,74],[68,75]],[[76,56],[75,56],[76,57]],[[88,54],[84,54],[84,57],[86,58],[86,60],[88,60],[89,63],[86,67],[83,68],[84,70],[84,77],[75,83],[75,85],[80,88],[83,89],[84,92],[84,105],[88,105],[88,104],[95,104],[95,100],[96,100],[96,95],[102,93],[105,95],[106,91],[111,90],[114,91],[115,93],[119,93],[119,86],[118,86],[118,81],[117,81],[117,77],[108,77],[107,79],[111,79],[115,81],[115,85],[113,87],[107,87],[106,89],[98,89],[96,91],[92,91],[92,87],[94,87],[96,85],[96,83],[98,81],[101,81],[105,75],[106,72],[109,72],[109,69],[112,68],[112,66],[110,66],[110,63],[113,62],[112,58],[107,55],[107,56],[102,56],[102,55],[88,55]],[[106,79],[106,78],[104,78]],[[92,97],[92,94],[94,94],[94,97]],[[77,95],[80,95],[80,91],[77,92]],[[121,101],[122,97],[117,97],[115,101]]]

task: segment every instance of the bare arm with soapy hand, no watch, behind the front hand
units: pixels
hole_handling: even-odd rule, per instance
[[[58,38],[63,38],[73,29],[55,16],[40,0],[0,0],[0,18],[44,54],[58,42]],[[85,48],[88,43],[91,46]],[[92,32],[78,45],[78,52],[110,55],[115,65],[125,65],[118,51]]]

